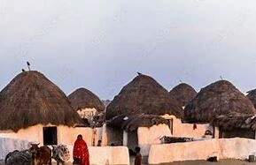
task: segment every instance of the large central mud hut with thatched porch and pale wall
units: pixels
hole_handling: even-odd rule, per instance
[[[141,146],[143,155],[147,155],[151,144],[160,142],[160,136],[171,135],[172,123],[162,116],[181,118],[182,111],[163,86],[140,74],[106,108],[108,143],[130,149]]]

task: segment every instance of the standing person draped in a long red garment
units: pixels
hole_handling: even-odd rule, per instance
[[[89,165],[88,146],[81,135],[78,135],[74,142],[73,159],[73,164]]]

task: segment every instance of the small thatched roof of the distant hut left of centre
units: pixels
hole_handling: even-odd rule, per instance
[[[98,112],[101,112],[105,109],[105,105],[97,95],[85,88],[76,89],[72,94],[68,95],[68,99],[75,110],[95,108]]]

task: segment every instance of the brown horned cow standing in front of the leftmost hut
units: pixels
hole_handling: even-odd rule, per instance
[[[29,152],[32,155],[33,165],[51,165],[51,150],[48,146],[38,146],[31,144]]]

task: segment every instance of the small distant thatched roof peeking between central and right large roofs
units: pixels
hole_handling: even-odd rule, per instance
[[[196,90],[186,84],[181,83],[178,86],[175,86],[169,94],[175,98],[175,100],[179,103],[181,107],[187,105],[194,97],[196,97],[197,92]]]

